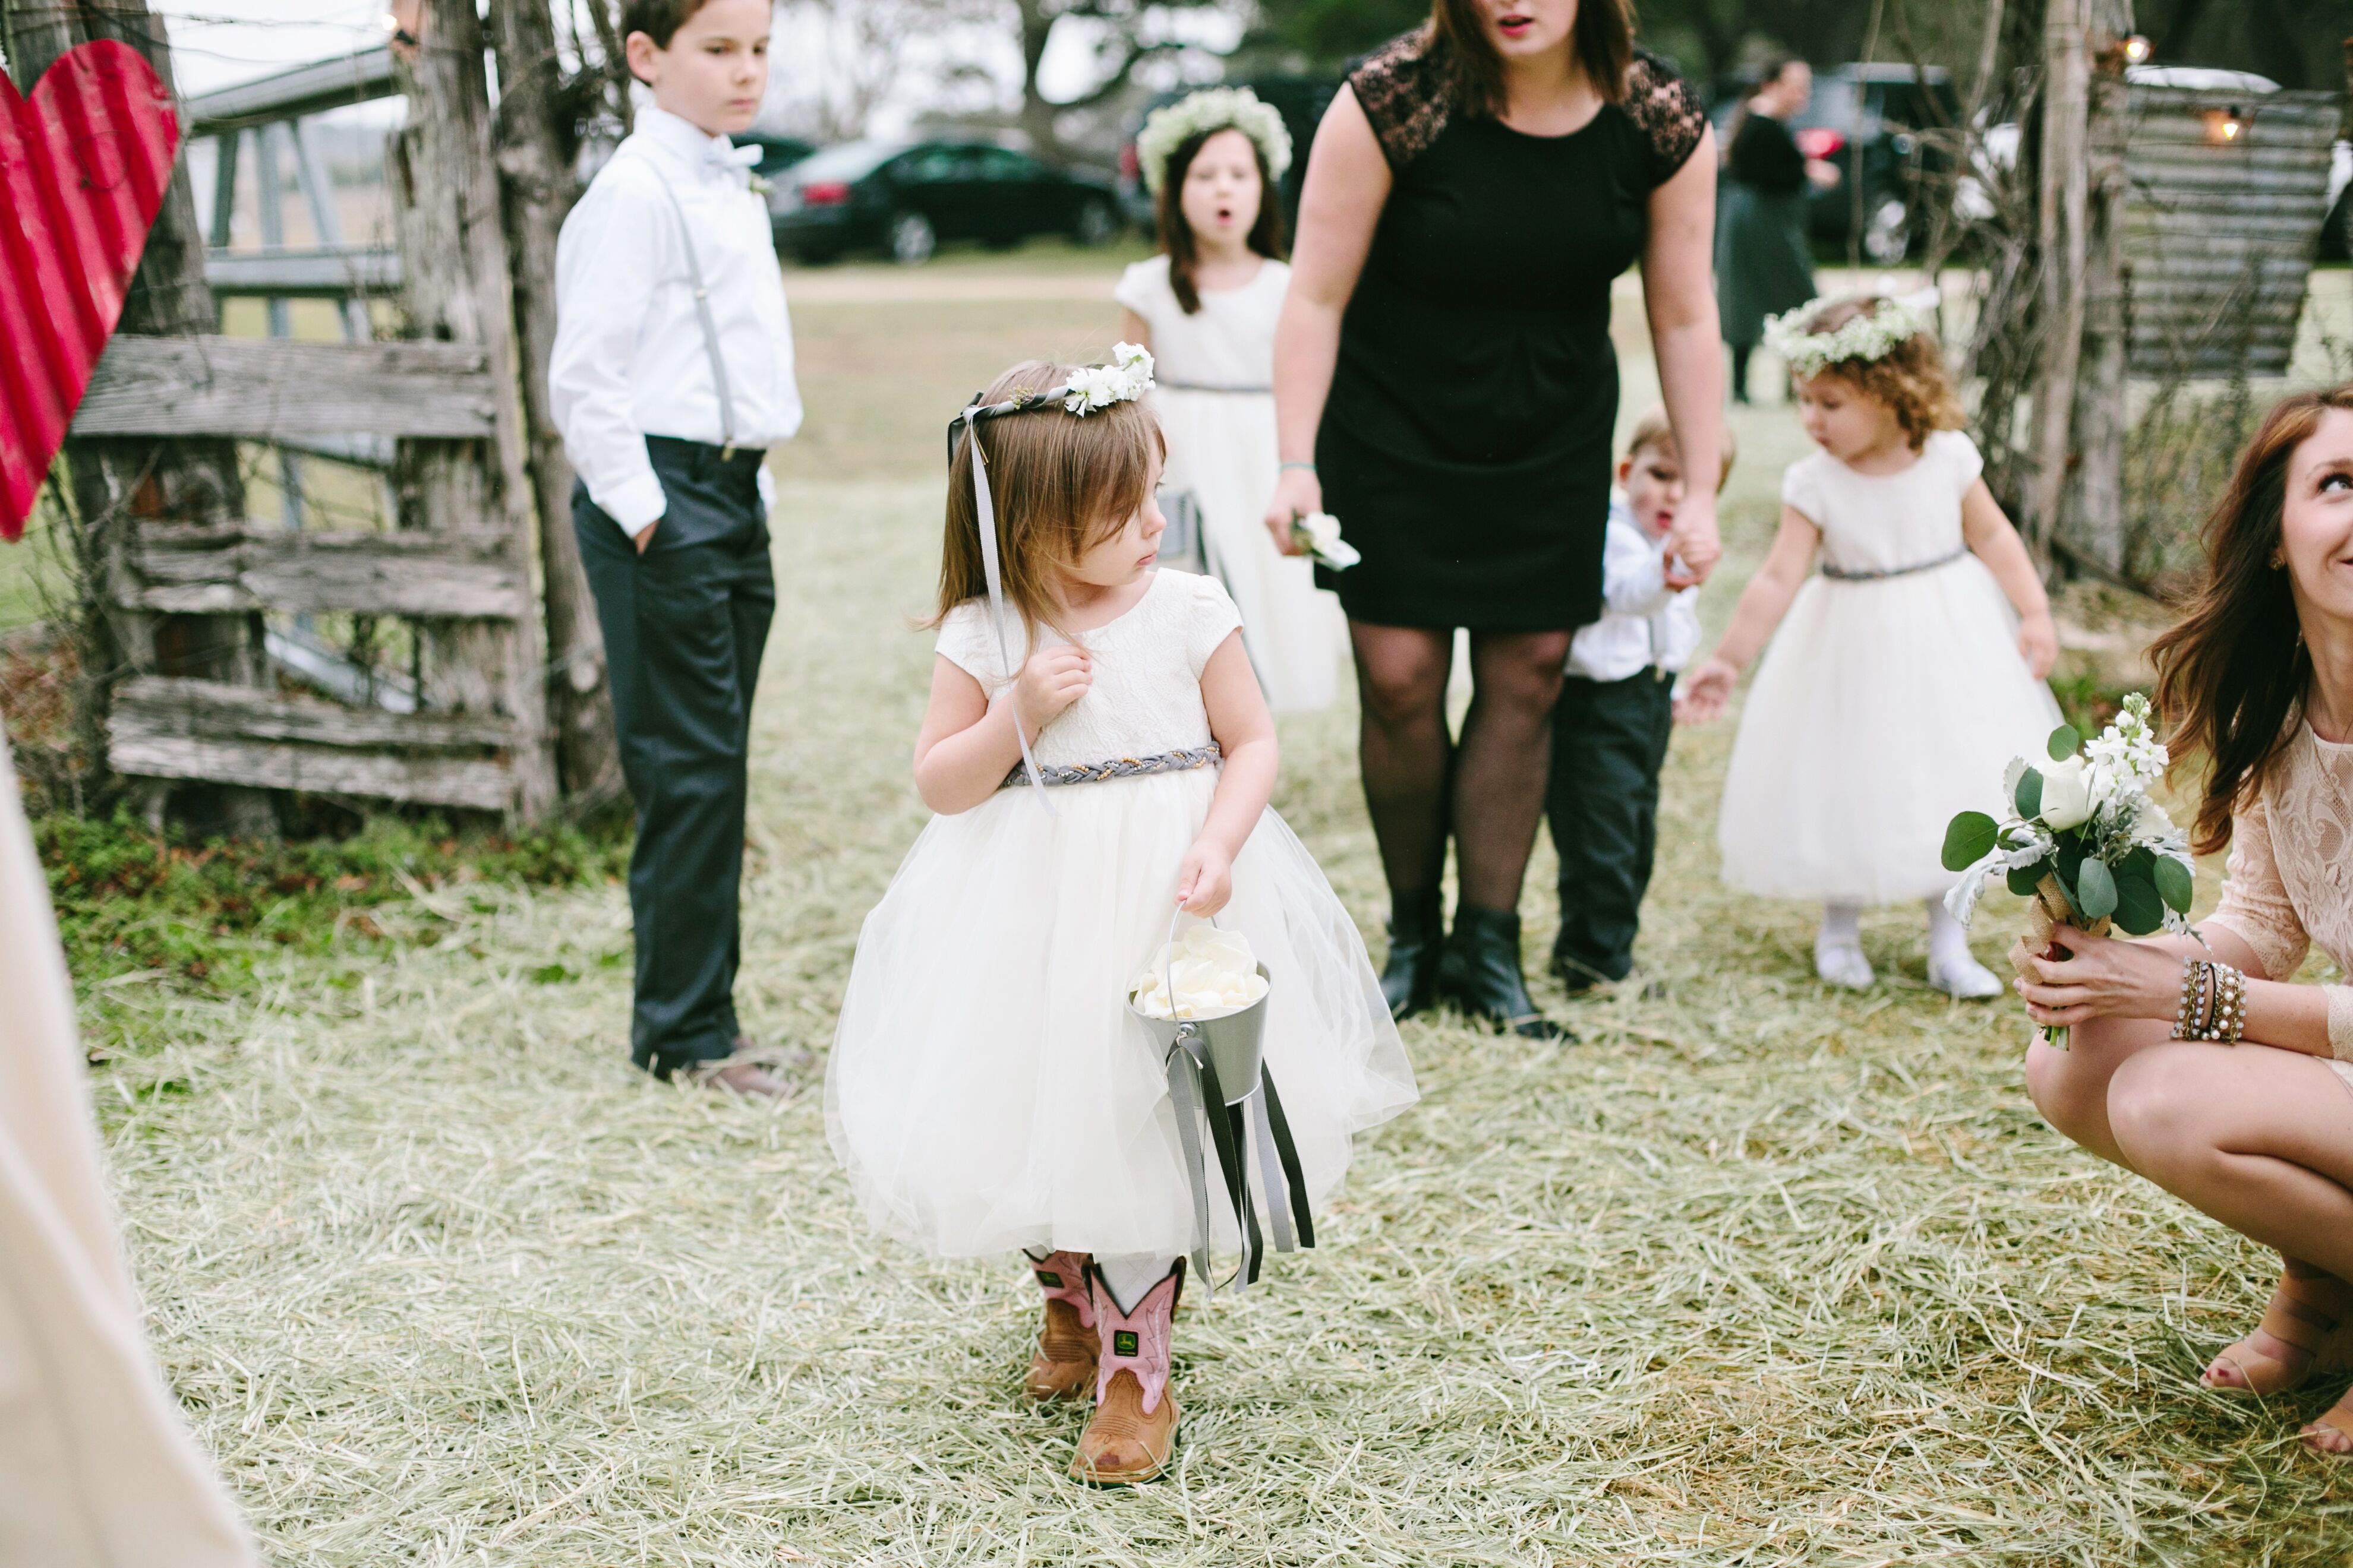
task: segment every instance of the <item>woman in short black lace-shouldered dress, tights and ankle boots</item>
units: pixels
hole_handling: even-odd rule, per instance
[[[1609,282],[1642,263],[1675,442],[1687,473],[1711,473],[1708,143],[1692,89],[1635,52],[1626,0],[1438,0],[1348,73],[1315,134],[1275,331],[1285,463],[1266,522],[1289,548],[1289,520],[1329,508],[1365,555],[1325,585],[1355,646],[1391,891],[1381,987],[1400,1018],[1447,994],[1560,1037],[1520,976],[1518,905],[1569,635],[1602,602]],[[1708,487],[1668,550],[1678,583],[1715,564]],[[1454,628],[1471,630],[1475,682],[1459,743]]]

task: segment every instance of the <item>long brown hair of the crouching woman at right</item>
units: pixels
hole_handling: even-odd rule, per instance
[[[2353,383],[2282,397],[2264,416],[2231,489],[2207,517],[2205,581],[2188,614],[2148,649],[2174,764],[2191,752],[2207,762],[2191,827],[2191,849],[2202,856],[2231,842],[2231,811],[2264,788],[2264,773],[2304,717],[2313,656],[2297,625],[2287,571],[2273,567],[2273,557],[2287,505],[2287,461],[2329,409],[2353,411]]]

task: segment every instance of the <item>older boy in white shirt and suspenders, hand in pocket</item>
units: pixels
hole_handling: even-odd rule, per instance
[[[776,609],[765,449],[800,428],[793,329],[751,190],[769,0],[626,0],[635,132],[565,219],[548,390],[638,799],[631,1060],[784,1091],[734,1013],[751,693]]]

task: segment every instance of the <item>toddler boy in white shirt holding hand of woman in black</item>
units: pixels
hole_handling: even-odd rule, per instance
[[[1732,477],[1732,430],[1715,489]],[[1675,729],[1675,672],[1699,646],[1699,590],[1666,588],[1666,531],[1682,461],[1666,409],[1635,421],[1602,536],[1602,618],[1569,642],[1553,708],[1544,816],[1560,853],[1553,973],[1569,992],[1624,980],[1659,846],[1659,769]]]

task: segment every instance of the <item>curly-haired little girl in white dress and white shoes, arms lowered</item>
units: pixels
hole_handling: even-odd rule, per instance
[[[2049,599],[1955,428],[1925,313],[1814,301],[1777,320],[1767,346],[1788,360],[1821,451],[1781,477],[1772,552],[1675,708],[1713,719],[1772,637],[1725,773],[1725,882],[1819,898],[1814,969],[1849,987],[1875,978],[1861,905],[1920,898],[1929,983],[2000,994],[1944,910],[1944,830],[1998,806],[2002,766],[2040,757],[2059,726],[2042,684],[2059,654]]]

